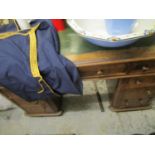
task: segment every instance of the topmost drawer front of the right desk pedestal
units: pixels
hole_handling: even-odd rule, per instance
[[[122,79],[120,86],[122,90],[155,86],[155,76]]]

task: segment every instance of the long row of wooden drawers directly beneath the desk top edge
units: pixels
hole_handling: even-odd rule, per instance
[[[92,65],[79,67],[81,78],[123,78],[155,74],[155,61],[129,62],[121,64]]]

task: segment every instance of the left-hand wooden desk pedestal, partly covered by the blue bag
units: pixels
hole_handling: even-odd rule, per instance
[[[29,116],[59,116],[62,114],[61,97],[28,102],[4,87],[0,87],[0,93],[22,108]]]

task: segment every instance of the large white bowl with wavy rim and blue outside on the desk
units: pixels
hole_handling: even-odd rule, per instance
[[[132,33],[111,36],[104,19],[68,19],[68,25],[89,42],[104,47],[122,47],[155,33],[155,19],[137,19]]]

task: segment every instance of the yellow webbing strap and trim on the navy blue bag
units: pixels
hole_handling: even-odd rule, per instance
[[[30,39],[30,69],[32,76],[34,78],[39,78],[38,82],[40,84],[41,90],[38,91],[38,93],[44,92],[44,85],[51,91],[51,93],[59,96],[59,94],[55,93],[54,90],[47,84],[47,82],[42,78],[39,68],[38,68],[38,56],[37,56],[37,39],[36,39],[36,33],[35,31],[39,25],[36,25],[35,27],[32,27],[28,32],[22,33],[22,32],[5,32],[5,33],[0,33],[0,39],[6,39],[8,37],[12,37],[15,35],[22,35],[22,36],[27,36],[29,35]]]

